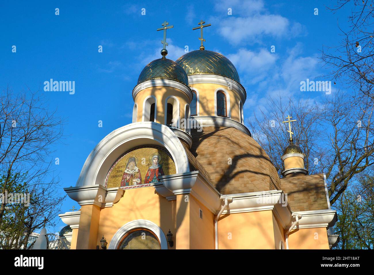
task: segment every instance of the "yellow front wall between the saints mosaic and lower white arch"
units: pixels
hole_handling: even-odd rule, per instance
[[[123,198],[113,207],[102,208],[96,242],[99,244],[104,235],[109,245],[120,227],[138,219],[157,224],[165,236],[169,229],[175,234],[175,206],[175,201],[158,195],[153,187],[126,190]],[[175,245],[169,249],[175,249]]]

